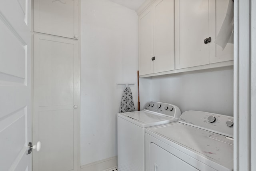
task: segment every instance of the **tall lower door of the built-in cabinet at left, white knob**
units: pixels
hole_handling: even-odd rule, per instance
[[[78,170],[78,42],[34,34],[34,171]]]

